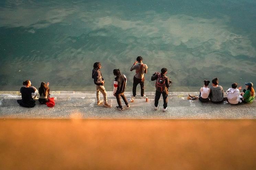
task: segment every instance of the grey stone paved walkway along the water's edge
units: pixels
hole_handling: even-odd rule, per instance
[[[131,94],[126,92],[126,97],[131,98]],[[56,101],[53,108],[38,101],[34,108],[24,108],[16,102],[21,99],[18,91],[0,91],[0,118],[256,119],[256,102],[238,105],[192,103],[187,100],[188,94],[198,95],[198,92],[169,92],[168,110],[162,112],[163,99],[159,101],[159,109],[154,110],[154,92],[146,92],[148,102],[144,97],[136,97],[130,102],[130,108],[120,111],[115,108],[117,102],[112,92],[108,92],[111,108],[97,105],[95,92],[74,91],[51,91]]]

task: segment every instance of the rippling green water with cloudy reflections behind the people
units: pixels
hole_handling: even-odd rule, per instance
[[[26,79],[51,90],[94,91],[94,62],[102,63],[107,91],[114,68],[128,78],[138,55],[148,65],[145,90],[166,67],[171,91],[198,91],[218,77],[256,83],[256,1],[141,0],[0,2],[0,90]],[[139,89],[139,87],[138,87]]]

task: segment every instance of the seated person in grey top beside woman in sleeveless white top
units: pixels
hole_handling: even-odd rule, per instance
[[[221,103],[223,102],[223,88],[222,86],[219,86],[219,80],[218,78],[214,78],[212,80],[212,87],[210,88],[210,99],[212,103]]]

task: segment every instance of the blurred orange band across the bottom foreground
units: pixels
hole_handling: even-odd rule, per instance
[[[0,119],[1,170],[253,170],[255,120]]]

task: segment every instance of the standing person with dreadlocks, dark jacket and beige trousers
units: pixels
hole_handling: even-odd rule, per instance
[[[100,68],[101,68],[101,63],[96,62],[93,64],[92,78],[94,79],[94,84],[96,85],[97,104],[99,105],[103,102],[102,100],[100,100],[100,92],[101,92],[103,95],[104,106],[111,107],[111,105],[108,104],[107,91],[105,90],[105,87],[104,87],[105,81],[102,78],[101,71],[99,70]]]

